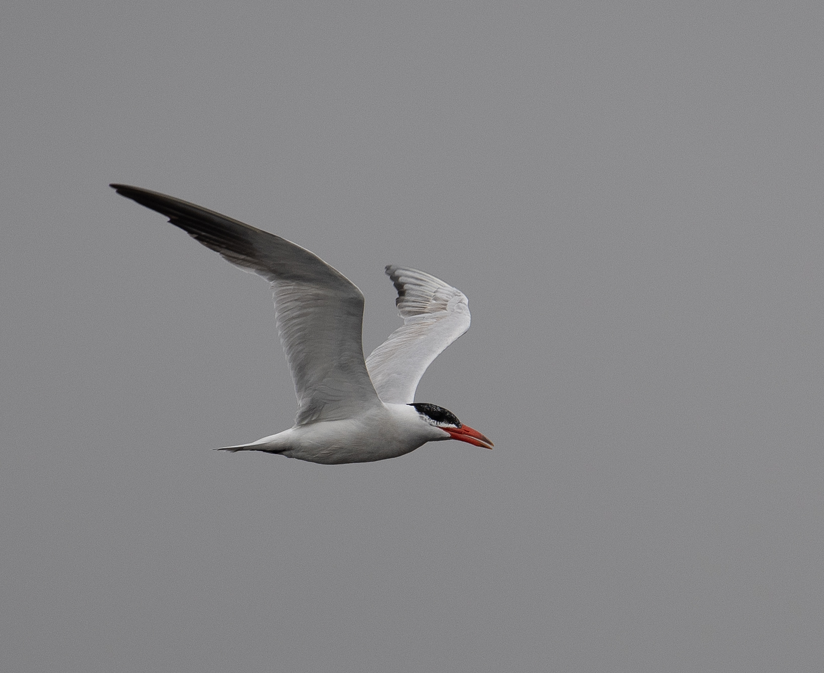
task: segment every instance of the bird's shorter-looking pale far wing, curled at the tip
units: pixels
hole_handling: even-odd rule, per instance
[[[404,266],[387,266],[404,324],[366,360],[377,394],[384,402],[409,404],[426,368],[469,329],[466,295],[433,275]]]

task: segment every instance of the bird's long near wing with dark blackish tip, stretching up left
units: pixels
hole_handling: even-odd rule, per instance
[[[363,361],[363,294],[343,274],[305,248],[236,219],[139,187],[111,186],[269,280],[297,394],[297,425],[348,418],[380,404]]]

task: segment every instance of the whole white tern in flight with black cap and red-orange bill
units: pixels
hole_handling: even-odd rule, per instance
[[[288,430],[220,451],[262,451],[319,464],[397,458],[430,441],[492,442],[436,404],[415,402],[433,360],[469,329],[466,295],[433,275],[386,266],[403,325],[363,357],[363,293],[319,256],[285,238],[173,196],[111,184],[165,215],[205,247],[269,281],[297,396]]]

